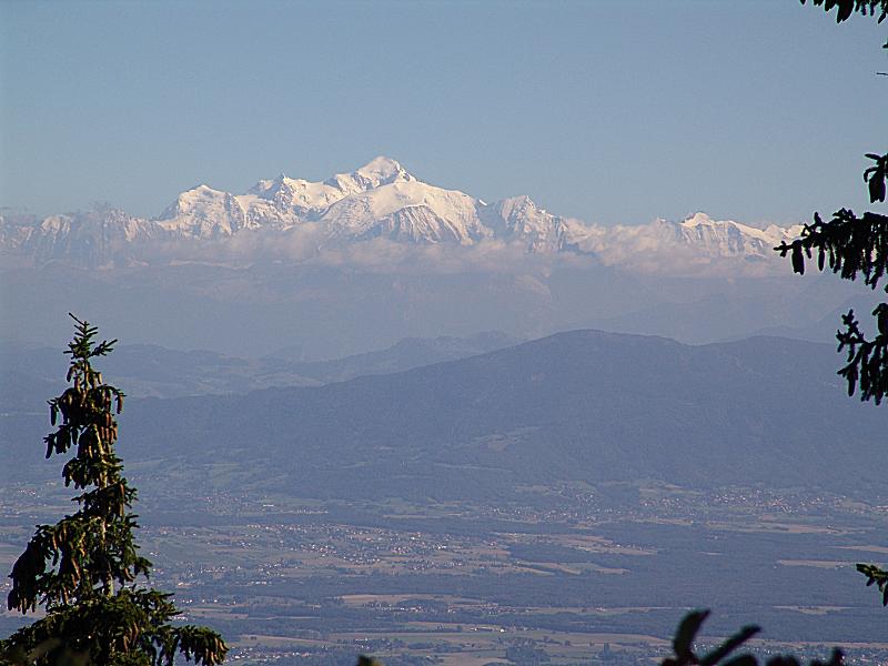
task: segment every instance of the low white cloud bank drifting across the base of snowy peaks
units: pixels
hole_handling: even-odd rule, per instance
[[[576,229],[576,226],[574,228]],[[147,263],[206,263],[245,266],[286,263],[405,273],[525,273],[561,266],[604,265],[626,272],[670,276],[771,276],[787,266],[767,236],[687,238],[685,229],[655,221],[644,225],[583,226],[568,250],[533,253],[519,241],[482,240],[471,245],[416,244],[373,238],[331,241],[317,223],[286,232],[252,231],[213,240],[147,243]]]

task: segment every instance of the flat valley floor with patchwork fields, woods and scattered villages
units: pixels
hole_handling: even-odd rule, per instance
[[[764,627],[759,654],[888,662],[885,612],[854,571],[888,507],[804,491],[659,483],[522,488],[497,505],[320,502],[155,482],[140,504],[153,584],[244,664],[652,664],[692,607],[708,640]],[[63,488],[0,491],[0,565]],[[188,511],[181,511],[181,507]],[[39,508],[38,508],[39,507]],[[0,616],[0,634],[22,624]]]

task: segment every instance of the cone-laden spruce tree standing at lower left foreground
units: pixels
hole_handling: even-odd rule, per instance
[[[112,351],[98,329],[71,315],[75,334],[71,386],[49,401],[57,430],[44,437],[47,457],[73,450],[62,468],[65,486],[81,494],[79,509],[54,525],[39,525],[12,567],[8,606],[46,616],[0,640],[0,664],[170,666],[176,655],[213,666],[225,658],[222,637],[205,627],[172,625],[172,595],[141,586],[151,563],[133,538],[135,488],[114,453],[124,394],[104,383],[92,360]]]

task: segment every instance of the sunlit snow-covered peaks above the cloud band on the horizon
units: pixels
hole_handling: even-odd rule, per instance
[[[195,243],[299,233],[311,224],[319,251],[389,239],[407,244],[471,246],[500,241],[528,253],[575,252],[604,263],[633,256],[682,255],[683,261],[771,258],[771,248],[799,228],[765,230],[697,213],[682,222],[637,226],[588,225],[546,212],[527,196],[495,203],[425,183],[398,162],[380,157],[323,182],[279,175],[243,194],[206,184],[182,192],[159,216],[134,218],[103,208],[22,220],[0,215],[0,251],[36,263],[59,260],[87,266],[190,259]],[[253,238],[253,236],[250,236]],[[183,253],[185,255],[183,255]],[[683,254],[684,253],[684,254]],[[632,263],[632,262],[630,262]]]

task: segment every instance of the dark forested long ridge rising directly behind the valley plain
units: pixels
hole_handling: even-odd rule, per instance
[[[645,478],[871,497],[885,486],[865,463],[884,450],[885,415],[844,395],[840,361],[833,345],[778,337],[689,346],[573,331],[323,386],[128,401],[121,446],[142,473],[167,461],[192,481],[306,497],[514,500]],[[0,471],[42,464],[47,414],[3,424]]]

